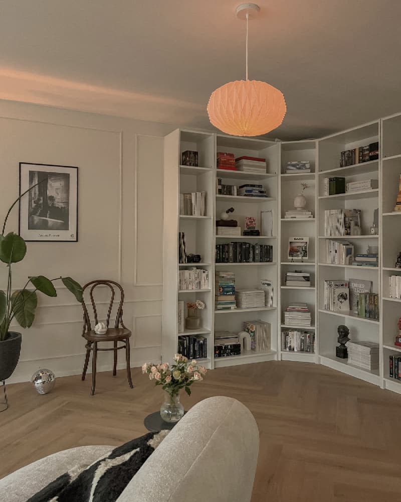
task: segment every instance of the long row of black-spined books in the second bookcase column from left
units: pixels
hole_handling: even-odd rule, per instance
[[[268,263],[273,262],[273,246],[251,242],[216,244],[216,263]]]

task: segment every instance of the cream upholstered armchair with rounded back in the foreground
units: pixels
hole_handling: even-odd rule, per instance
[[[0,480],[3,502],[26,502],[75,465],[90,464],[112,446],[81,446],[49,455]],[[259,431],[239,401],[213,397],[197,403],[131,479],[118,502],[249,502],[259,453]]]

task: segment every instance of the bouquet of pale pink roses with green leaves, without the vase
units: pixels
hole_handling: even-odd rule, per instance
[[[156,385],[163,386],[163,391],[168,392],[171,396],[178,394],[180,389],[185,389],[185,392],[190,396],[189,387],[193,382],[202,381],[207,371],[195,359],[189,362],[187,357],[181,354],[174,355],[174,363],[171,368],[167,362],[164,364],[145,362],[142,366],[142,373],[147,373],[149,380],[154,380]]]

